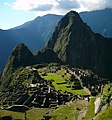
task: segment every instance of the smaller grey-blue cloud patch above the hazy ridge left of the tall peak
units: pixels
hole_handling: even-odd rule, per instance
[[[53,8],[51,4],[39,5],[36,8],[33,8],[32,11],[49,11]]]

